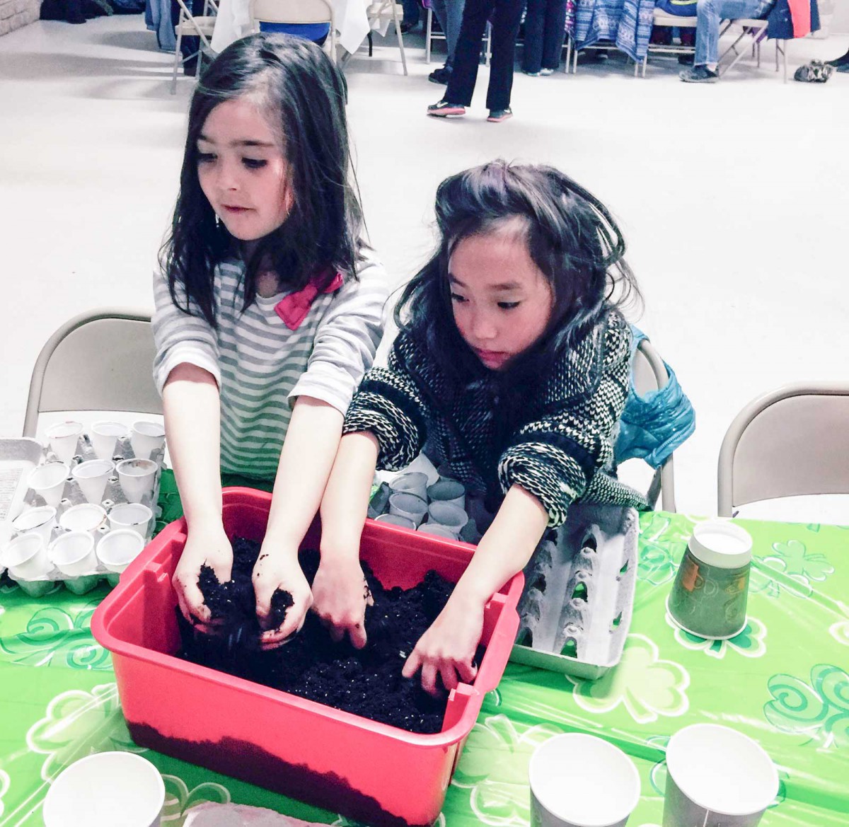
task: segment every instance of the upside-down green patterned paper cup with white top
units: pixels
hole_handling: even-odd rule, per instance
[[[728,520],[698,523],[684,552],[666,609],[685,632],[734,638],[745,629],[751,537]]]

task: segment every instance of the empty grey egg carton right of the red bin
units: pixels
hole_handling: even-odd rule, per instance
[[[637,583],[636,510],[575,504],[526,566],[510,660],[600,678],[621,660]]]

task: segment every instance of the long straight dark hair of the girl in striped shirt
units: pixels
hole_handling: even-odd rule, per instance
[[[321,48],[304,38],[243,37],[216,57],[194,90],[180,193],[171,233],[160,250],[171,301],[187,313],[194,303],[213,326],[214,268],[233,251],[235,239],[216,222],[200,188],[197,141],[218,104],[245,95],[279,124],[293,194],[283,225],[260,239],[246,262],[245,307],[256,297],[260,267],[271,267],[292,290],[301,290],[312,278],[323,281],[324,273],[327,281],[319,287],[337,271],[356,278],[363,217],[348,149],[345,78]],[[177,284],[185,293],[185,307]]]

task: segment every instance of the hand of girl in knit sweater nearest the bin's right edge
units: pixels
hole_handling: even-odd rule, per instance
[[[483,634],[483,607],[479,600],[455,592],[419,638],[402,669],[404,678],[412,678],[421,668],[422,689],[430,695],[439,694],[437,676],[449,692],[460,681],[470,684],[477,674],[472,661]]]

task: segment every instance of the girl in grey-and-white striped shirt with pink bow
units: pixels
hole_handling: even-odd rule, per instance
[[[155,380],[188,539],[173,582],[210,631],[202,565],[224,582],[222,472],[274,481],[254,569],[261,644],[312,603],[297,552],[348,403],[371,366],[388,295],[362,241],[346,87],[318,46],[258,34],[212,63],[192,98],[180,193],[155,275]],[[277,588],[295,601],[267,628]]]

